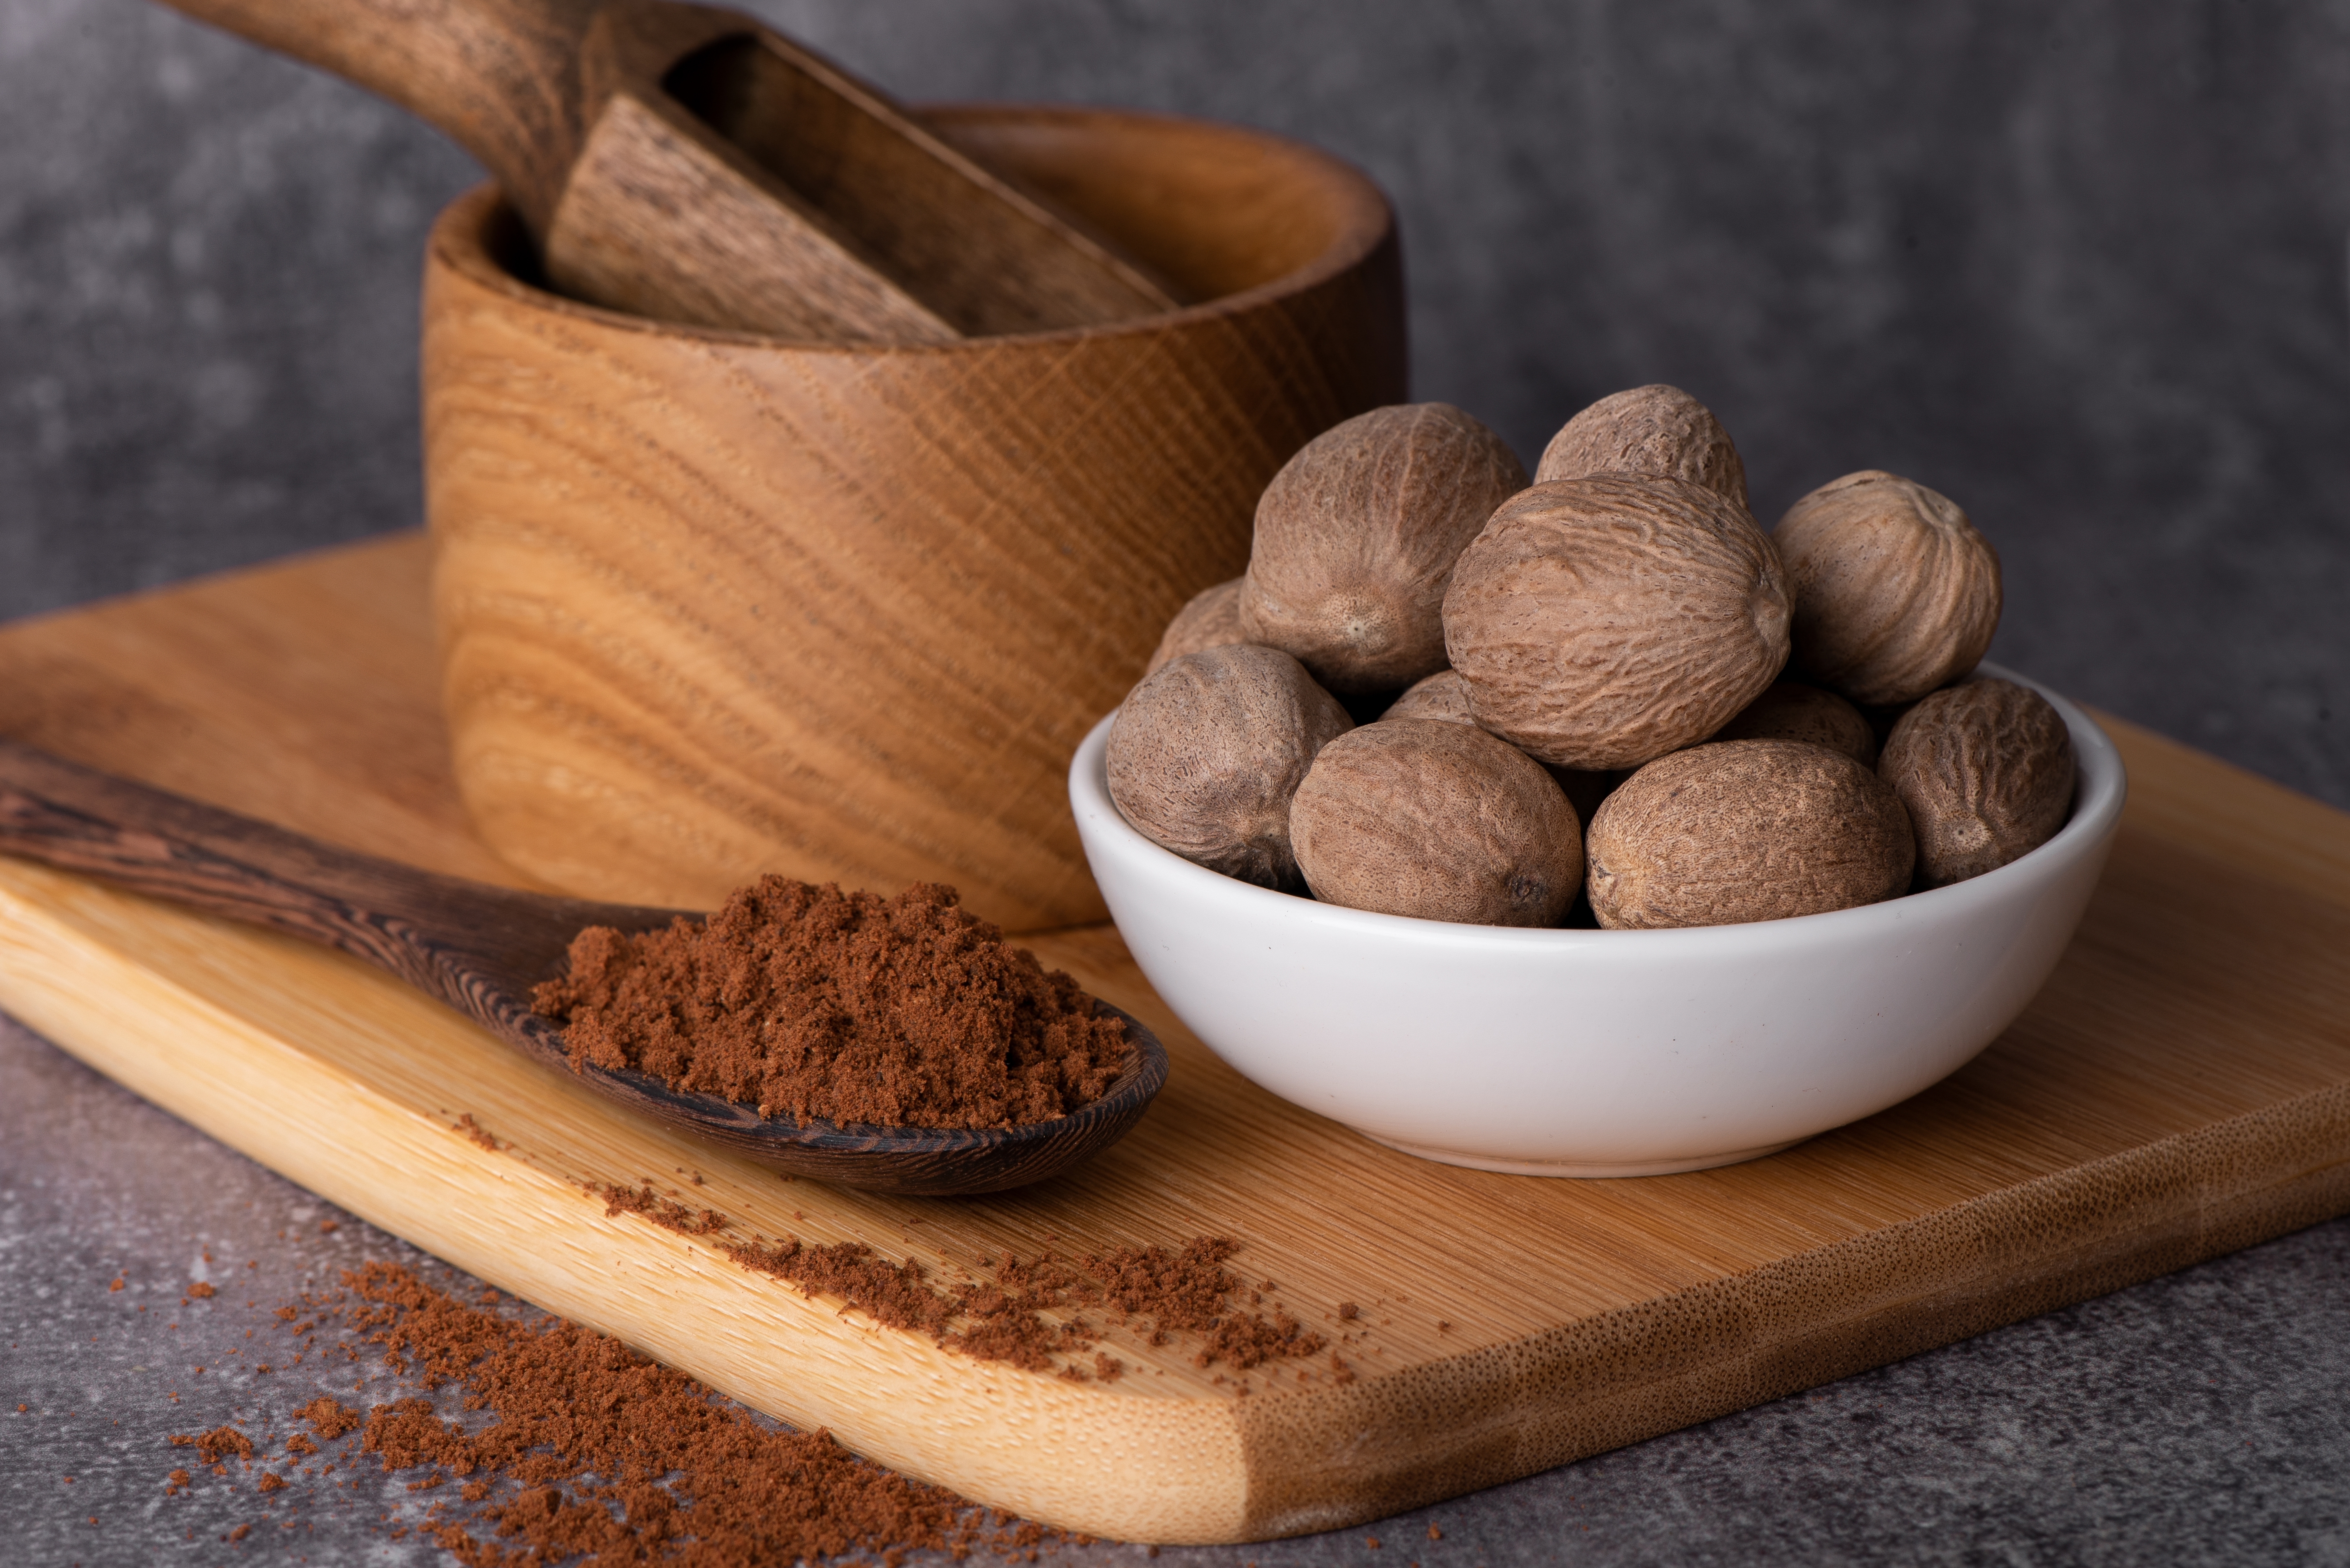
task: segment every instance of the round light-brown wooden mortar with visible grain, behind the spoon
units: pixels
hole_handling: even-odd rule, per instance
[[[1210,303],[834,346],[548,294],[491,188],[432,230],[425,501],[456,778],[559,889],[714,907],[757,872],[1102,919],[1065,771],[1257,491],[1405,397],[1394,214],[1224,125],[928,113]]]

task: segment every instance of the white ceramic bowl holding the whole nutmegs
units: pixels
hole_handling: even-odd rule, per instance
[[[1868,1117],[1998,1039],[2056,969],[2127,780],[2073,731],[2063,830],[1864,910],[1690,931],[1516,931],[1342,910],[1159,849],[1109,799],[1102,719],[1069,769],[1086,858],[1175,1016],[1295,1105],[1426,1159],[1659,1175]]]

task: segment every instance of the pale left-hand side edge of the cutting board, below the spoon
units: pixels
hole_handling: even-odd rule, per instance
[[[284,985],[291,1009],[268,994]],[[794,1213],[792,1185],[611,1110],[355,959],[0,858],[0,1009],[371,1225],[886,1465],[1093,1533],[1243,1526],[1234,1401],[1088,1401],[609,1215],[588,1182],[658,1175],[766,1234],[919,1251],[827,1234],[825,1215]],[[331,1046],[296,1039],[301,1011]],[[475,1143],[468,1114],[505,1147]]]

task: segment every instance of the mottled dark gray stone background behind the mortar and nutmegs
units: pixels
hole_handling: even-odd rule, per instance
[[[1403,214],[1419,397],[1673,381],[1772,522],[1960,501],[1995,658],[2350,804],[2350,5],[768,0],[914,99],[1246,120]],[[418,520],[432,132],[0,0],[0,616]]]

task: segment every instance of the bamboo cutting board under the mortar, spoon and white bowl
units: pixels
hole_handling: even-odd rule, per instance
[[[400,536],[0,628],[0,733],[519,882],[449,783],[425,571],[425,541]],[[964,1201],[764,1175],[338,954],[5,858],[0,1006],[352,1213],[761,1410],[1072,1528],[1250,1540],[1492,1486],[2350,1208],[2350,816],[2108,726],[2129,813],[2023,1020],[1915,1100],[1692,1175],[1382,1150],[1217,1063],[1112,929],[1034,947],[1161,1032],[1166,1095],[1081,1173]],[[1126,1331],[1104,1345],[1128,1363],[1114,1382],[973,1361],[585,1192],[646,1178],[738,1234],[860,1239],[947,1279],[1006,1246],[1229,1237],[1234,1267],[1349,1366],[1234,1380],[1194,1363],[1196,1338]]]

